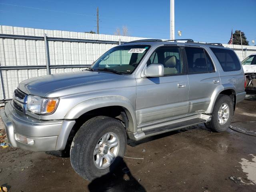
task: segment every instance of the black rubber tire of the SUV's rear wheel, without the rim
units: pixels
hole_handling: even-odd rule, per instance
[[[228,116],[228,120],[226,120],[226,123],[224,125],[221,125],[218,121],[218,112],[219,112],[220,106],[223,103],[228,104],[229,116]],[[234,102],[232,98],[228,95],[220,94],[216,99],[214,108],[212,110],[212,119],[210,122],[205,123],[205,126],[206,128],[209,128],[214,132],[224,132],[228,130],[228,127],[230,126],[230,122],[232,121],[233,114],[234,114]]]

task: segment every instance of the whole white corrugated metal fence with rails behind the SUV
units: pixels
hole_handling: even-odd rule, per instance
[[[0,26],[0,105],[28,78],[82,70],[110,48],[144,38]],[[223,44],[240,60],[256,46]]]

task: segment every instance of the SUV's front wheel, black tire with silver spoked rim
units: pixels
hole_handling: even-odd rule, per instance
[[[71,165],[80,176],[91,181],[114,171],[124,156],[126,143],[126,131],[120,121],[107,116],[94,117],[74,136]]]

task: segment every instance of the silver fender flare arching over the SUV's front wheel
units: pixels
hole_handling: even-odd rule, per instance
[[[74,106],[72,109],[70,109],[66,113],[64,119],[67,119],[67,120],[77,119],[82,114],[85,114],[86,112],[89,112],[94,109],[102,108],[102,107],[108,107],[108,106],[120,106],[124,108],[124,111],[126,112],[126,115],[128,118],[127,131],[136,132],[137,130],[136,112],[130,100],[128,100],[123,96],[100,96],[100,97],[94,97],[94,98],[84,100],[76,104],[76,106]]]

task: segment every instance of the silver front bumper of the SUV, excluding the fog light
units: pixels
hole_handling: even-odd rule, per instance
[[[38,120],[17,112],[12,101],[6,104],[0,115],[10,144],[30,151],[63,150],[75,124],[74,120]],[[34,139],[34,144],[17,141],[16,133]]]

